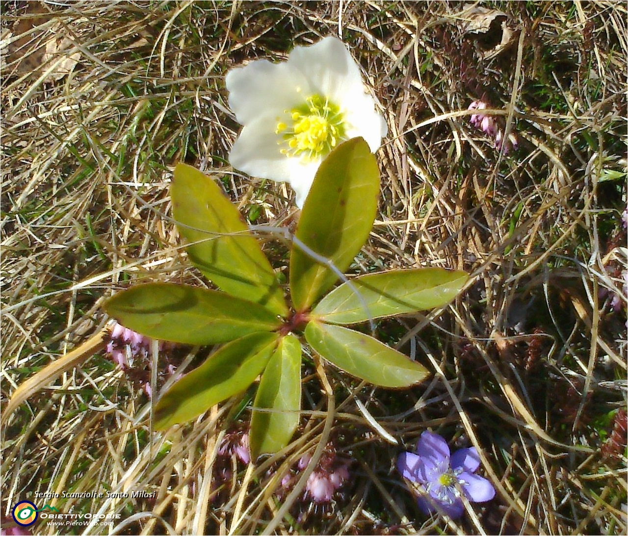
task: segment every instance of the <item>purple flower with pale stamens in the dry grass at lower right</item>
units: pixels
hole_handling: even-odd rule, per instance
[[[495,496],[493,485],[474,474],[479,466],[475,447],[450,456],[445,439],[428,431],[421,434],[416,454],[401,453],[397,459],[397,469],[404,478],[425,486],[426,495],[418,498],[421,511],[426,515],[445,513],[452,519],[465,510],[461,491],[472,503],[484,503]]]

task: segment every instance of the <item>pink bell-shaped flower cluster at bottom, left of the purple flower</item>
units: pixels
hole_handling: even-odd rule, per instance
[[[304,454],[296,464],[296,473],[288,473],[281,479],[281,487],[284,490],[294,485],[299,478],[298,473],[305,470],[310,460],[311,455]],[[315,503],[330,503],[334,493],[349,480],[349,466],[349,460],[342,459],[331,452],[323,453],[318,467],[308,477],[303,498]]]

